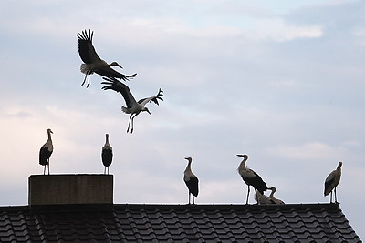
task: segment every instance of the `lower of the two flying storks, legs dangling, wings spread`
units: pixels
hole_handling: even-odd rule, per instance
[[[130,88],[128,86],[121,83],[119,80],[117,80],[115,78],[103,77],[103,79],[107,80],[108,82],[101,83],[103,85],[107,85],[107,86],[103,86],[102,89],[104,89],[104,90],[111,89],[116,92],[119,92],[125,100],[127,107],[121,106],[121,110],[126,114],[130,114],[130,121],[128,123],[127,133],[129,131],[130,131],[130,133],[133,133],[133,120],[136,116],[138,116],[141,113],[141,111],[146,111],[151,115],[150,110],[147,107],[145,107],[147,105],[147,103],[153,101],[156,105],[159,105],[159,100],[163,100],[162,99],[163,91],[160,88],[159,93],[156,96],[142,98],[141,100],[136,102],[136,100],[133,97],[133,95],[131,94]],[[131,127],[130,127],[130,125],[131,125]]]

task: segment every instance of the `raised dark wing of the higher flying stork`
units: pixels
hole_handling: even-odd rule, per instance
[[[93,35],[94,32],[91,30],[89,30],[89,32],[84,30],[81,33],[78,33],[78,54],[81,57],[81,60],[86,64],[101,61],[92,45]]]

